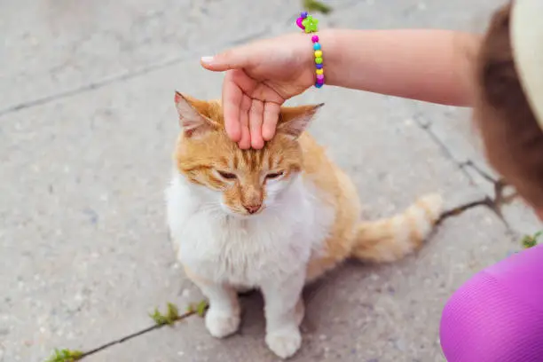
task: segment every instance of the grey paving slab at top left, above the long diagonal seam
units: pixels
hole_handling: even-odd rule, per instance
[[[286,28],[287,0],[0,3],[0,111]],[[223,19],[223,20],[221,20]]]

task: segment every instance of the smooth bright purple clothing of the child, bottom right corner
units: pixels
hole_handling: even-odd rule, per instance
[[[448,362],[543,361],[543,245],[479,272],[445,305]]]

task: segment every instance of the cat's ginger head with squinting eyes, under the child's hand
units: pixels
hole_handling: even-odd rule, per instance
[[[298,142],[319,106],[282,107],[276,136],[261,150],[241,150],[224,130],[219,101],[176,92],[181,134],[177,169],[195,185],[210,209],[239,216],[277,207],[279,198],[303,168]]]

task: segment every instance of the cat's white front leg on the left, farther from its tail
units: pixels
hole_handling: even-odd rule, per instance
[[[206,327],[209,333],[216,338],[224,338],[235,333],[240,327],[240,303],[236,290],[226,284],[201,279],[187,268],[185,272],[209,300],[209,310],[206,313]]]

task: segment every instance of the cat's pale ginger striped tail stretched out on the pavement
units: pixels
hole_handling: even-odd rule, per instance
[[[397,216],[358,225],[352,256],[374,262],[394,262],[419,248],[443,209],[439,194],[428,194]]]

